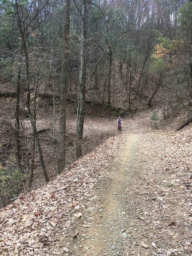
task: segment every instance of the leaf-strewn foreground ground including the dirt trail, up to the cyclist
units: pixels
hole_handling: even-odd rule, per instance
[[[140,119],[0,210],[0,255],[192,255],[192,125]]]

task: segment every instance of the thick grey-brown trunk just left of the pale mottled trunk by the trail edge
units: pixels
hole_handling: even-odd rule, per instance
[[[65,1],[64,9],[64,64],[63,64],[63,81],[61,83],[61,97],[60,97],[60,115],[59,115],[59,159],[58,169],[62,172],[65,168],[66,155],[66,106],[67,106],[67,85],[68,85],[68,58],[69,58],[69,33],[70,33],[70,0]]]

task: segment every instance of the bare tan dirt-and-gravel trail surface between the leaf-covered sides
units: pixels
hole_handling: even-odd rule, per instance
[[[74,233],[79,232],[77,238],[68,241],[72,255],[144,255],[134,254],[134,248],[131,248],[139,243],[135,220],[142,221],[135,212],[140,198],[135,198],[133,187],[140,190],[145,179],[140,171],[146,172],[143,163],[149,159],[145,158],[146,145],[140,137],[123,133],[125,145],[121,155],[102,173],[104,177],[97,188],[97,201],[87,209],[79,227],[74,228]],[[139,214],[144,214],[142,208]]]

